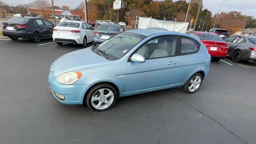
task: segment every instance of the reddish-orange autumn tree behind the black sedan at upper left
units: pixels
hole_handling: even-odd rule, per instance
[[[40,12],[40,15],[42,15],[44,18],[48,15],[48,9],[51,8],[50,2],[47,0],[36,0],[32,2],[33,6],[37,8]]]

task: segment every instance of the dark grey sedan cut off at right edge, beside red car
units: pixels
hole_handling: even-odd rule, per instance
[[[246,60],[256,62],[256,37],[255,36],[230,36],[224,39],[228,43],[230,56],[233,62]]]

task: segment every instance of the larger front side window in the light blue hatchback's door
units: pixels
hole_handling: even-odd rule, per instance
[[[175,36],[159,37],[144,44],[136,53],[144,56],[146,60],[170,57],[175,55],[176,44],[177,37]]]

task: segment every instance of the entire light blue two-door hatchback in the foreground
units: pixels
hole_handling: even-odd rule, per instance
[[[49,83],[59,102],[103,111],[122,96],[176,87],[196,92],[209,66],[210,55],[196,36],[136,29],[61,56]]]

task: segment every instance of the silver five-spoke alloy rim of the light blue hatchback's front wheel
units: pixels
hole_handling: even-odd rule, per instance
[[[91,104],[98,110],[103,110],[111,106],[114,101],[114,93],[108,88],[101,88],[94,92]]]

